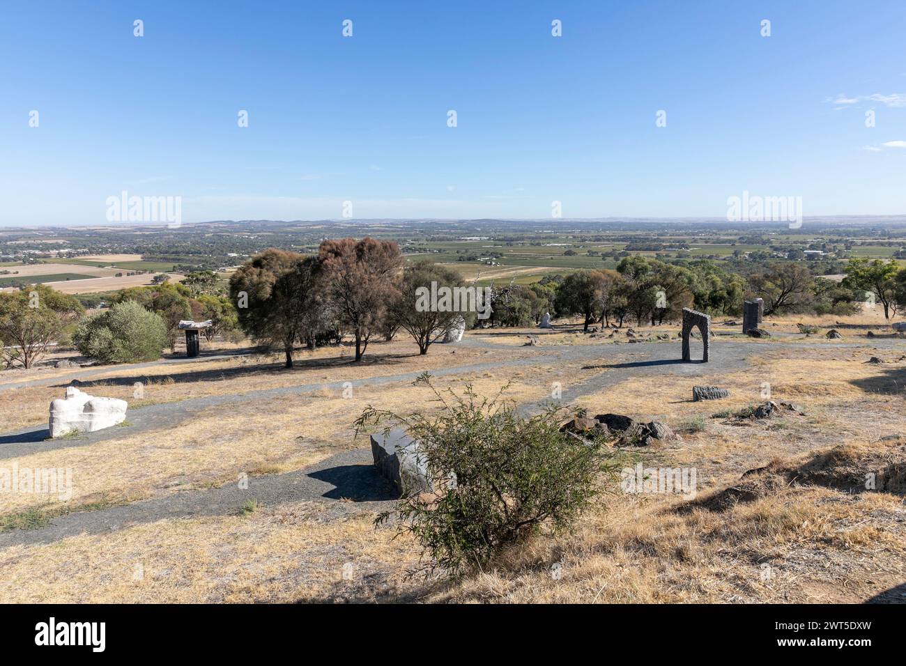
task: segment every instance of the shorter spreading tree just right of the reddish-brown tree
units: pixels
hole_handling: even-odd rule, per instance
[[[460,317],[466,318],[469,313],[453,310],[451,302],[444,306],[438,303],[425,307],[424,294],[431,293],[431,284],[436,290],[446,287],[451,291],[464,286],[462,278],[456,271],[439,266],[431,261],[419,261],[407,266],[400,281],[398,294],[390,307],[389,320],[397,323],[406,333],[412,336],[419,345],[419,354],[428,353],[432,343],[442,337],[445,331]],[[458,304],[462,306],[462,304]]]

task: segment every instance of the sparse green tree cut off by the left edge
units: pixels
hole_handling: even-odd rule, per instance
[[[0,358],[6,367],[31,368],[82,313],[79,299],[47,285],[0,293]]]

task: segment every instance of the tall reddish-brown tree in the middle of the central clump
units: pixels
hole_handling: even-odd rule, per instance
[[[352,331],[359,362],[398,293],[400,247],[373,238],[325,240],[318,261],[322,270],[319,285],[340,322]]]

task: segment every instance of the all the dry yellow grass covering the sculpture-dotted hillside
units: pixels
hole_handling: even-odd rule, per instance
[[[795,328],[795,321],[788,324]],[[627,345],[627,352],[635,346]],[[448,360],[495,361],[494,353],[458,348]],[[507,358],[512,353],[518,352],[507,352]],[[416,359],[419,370],[432,354]],[[371,511],[296,502],[265,506],[249,516],[168,519],[102,536],[6,547],[0,551],[0,601],[863,602],[906,579],[906,510],[900,495],[853,494],[828,483],[785,481],[720,510],[708,504],[712,494],[740,487],[747,469],[773,458],[786,460],[786,468],[807,471],[814,481],[825,468],[839,474],[878,467],[877,460],[893,455],[891,447],[901,446],[877,441],[906,431],[901,389],[906,363],[897,362],[899,353],[814,345],[795,355],[763,345],[747,371],[627,375],[576,401],[592,414],[659,418],[674,427],[703,422],[704,430],[684,431],[682,439],[634,451],[646,466],[697,468],[700,505],[690,508],[674,495],[627,495],[609,486],[569,534],[520,544],[483,574],[448,582],[406,580],[407,567],[418,557],[416,545],[407,538],[390,540],[390,529],[375,532]],[[887,362],[867,363],[872,355]],[[234,367],[229,363],[202,365],[214,375]],[[356,368],[358,376],[385,370],[381,365]],[[172,397],[168,391],[180,388],[201,395],[209,384],[217,392],[241,392],[274,381],[284,385],[279,382],[286,379],[263,367],[246,381],[208,379],[180,387],[165,379],[172,370],[148,369],[159,382],[151,387],[151,400]],[[471,381],[479,393],[492,394],[513,379],[508,395],[526,402],[545,398],[550,381],[564,381],[567,389],[569,382],[602,372],[614,371],[583,371],[580,362],[538,363],[516,371],[436,378],[435,383],[461,389]],[[118,377],[111,369],[104,379]],[[335,368],[300,370],[291,377],[295,383],[346,379]],[[794,401],[805,415],[765,421],[712,418],[764,401],[765,382],[773,400]],[[730,399],[692,402],[692,385],[705,383],[727,387]],[[149,433],[123,428],[121,437],[89,447],[15,461],[23,467],[72,467],[72,505],[99,497],[168,494],[235,480],[240,471],[304,468],[343,449],[367,446],[364,439],[352,439],[352,421],[366,405],[407,412],[423,407],[428,395],[426,388],[396,382],[357,388],[346,399],[324,390],[271,399],[254,410],[236,403],[202,410],[178,430],[171,424]],[[37,394],[34,404],[44,410],[42,400]],[[816,451],[840,443],[846,447],[815,457]],[[29,497],[7,496],[0,513],[36,506]],[[552,575],[554,563],[560,564],[562,577]],[[342,577],[346,564],[352,564],[350,580]],[[137,571],[142,573],[138,580]]]

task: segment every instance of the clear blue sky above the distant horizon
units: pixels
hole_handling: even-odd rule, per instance
[[[554,200],[723,217],[744,190],[801,196],[806,216],[906,213],[901,0],[2,14],[2,226],[102,224],[123,190],[181,197],[187,222],[338,218],[344,200],[354,217],[550,217]]]

